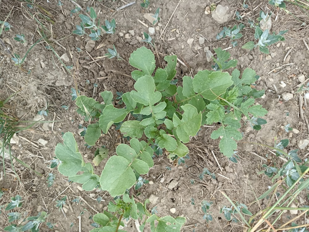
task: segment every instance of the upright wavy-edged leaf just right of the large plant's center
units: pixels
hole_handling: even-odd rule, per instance
[[[180,141],[187,143],[190,140],[189,136],[195,136],[201,128],[202,114],[201,112],[198,113],[197,109],[190,104],[181,106],[181,108],[184,110],[182,119],[180,120],[175,113],[173,116],[173,124],[175,127],[175,129],[173,129],[173,134],[176,135]]]

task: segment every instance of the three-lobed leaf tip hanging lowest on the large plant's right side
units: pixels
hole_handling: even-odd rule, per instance
[[[237,149],[237,144],[235,140],[241,140],[243,138],[241,133],[234,127],[221,126],[218,130],[213,131],[210,137],[212,139],[217,139],[220,136],[222,136],[219,143],[220,151],[226,157],[232,157],[232,155],[234,154],[234,150]]]

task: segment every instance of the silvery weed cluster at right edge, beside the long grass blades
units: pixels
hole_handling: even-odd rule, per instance
[[[264,170],[260,171],[258,174],[264,173],[269,178],[272,178],[272,182],[280,177],[285,177],[285,182],[287,186],[290,187],[295,183],[295,181],[298,180],[300,175],[302,175],[308,167],[305,165],[298,165],[298,163],[302,162],[297,154],[298,149],[291,150],[286,155],[284,154],[283,149],[286,148],[288,144],[289,140],[283,139],[274,147],[276,149],[276,156],[284,155],[286,158],[289,158],[288,162],[286,162],[281,168],[263,164],[262,167]],[[303,179],[300,181],[302,182]]]

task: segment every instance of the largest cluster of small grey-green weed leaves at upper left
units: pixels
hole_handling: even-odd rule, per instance
[[[73,31],[74,34],[82,36],[86,34],[85,29],[90,29],[91,33],[89,37],[91,40],[99,40],[101,38],[101,29],[103,29],[107,34],[114,34],[116,32],[116,21],[112,19],[111,22],[105,20],[105,26],[100,25],[100,19],[96,22],[97,15],[92,7],[89,9],[90,17],[87,15],[78,15],[82,22],[80,25],[76,25],[76,30]]]

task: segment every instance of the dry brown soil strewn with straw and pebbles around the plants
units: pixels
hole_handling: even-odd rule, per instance
[[[19,183],[14,173],[11,172],[10,161],[5,160],[7,175],[6,178],[1,175],[0,181],[0,187],[5,194],[0,203],[4,205],[9,202],[10,197],[19,194],[23,197],[23,209],[27,211],[28,216],[35,216],[38,211],[48,212],[47,220],[55,223],[56,231],[78,231],[79,223],[81,223],[81,231],[94,228],[90,225],[93,222],[91,216],[95,212],[106,209],[108,201],[112,200],[111,197],[106,192],[81,191],[78,184],[69,183],[68,179],[60,175],[57,169],[47,167],[50,165],[49,160],[54,156],[56,144],[62,142],[62,133],[67,131],[75,134],[79,149],[86,160],[91,161],[96,149],[96,147],[87,149],[83,138],[79,136],[78,126],[81,124],[87,127],[88,123],[76,113],[75,103],[71,100],[71,88],[78,88],[81,95],[94,97],[99,101],[102,100],[99,97],[101,91],[109,90],[115,95],[116,91],[132,90],[133,82],[129,75],[133,67],[127,61],[130,54],[141,46],[154,51],[157,67],[163,67],[165,55],[176,54],[185,64],[177,65],[177,76],[180,80],[184,75],[193,76],[199,70],[211,69],[213,63],[207,62],[204,48],[209,47],[212,50],[221,47],[222,49],[228,48],[232,57],[239,60],[237,65],[239,70],[250,67],[256,71],[257,75],[260,75],[256,88],[265,89],[265,97],[258,99],[257,102],[268,110],[269,113],[265,117],[268,124],[264,125],[260,131],[254,131],[250,125],[244,125],[241,128],[244,138],[239,142],[237,164],[222,156],[217,147],[218,141],[210,139],[213,128],[203,128],[198,136],[193,137],[188,144],[190,154],[184,164],[174,166],[166,156],[156,156],[154,158],[155,167],[144,177],[152,181],[151,184],[144,185],[135,192],[135,195],[141,201],[150,197],[151,194],[157,196],[158,199],[153,202],[154,204],[149,205],[149,209],[157,207],[161,216],[186,217],[187,221],[182,231],[241,231],[240,224],[230,223],[220,214],[222,206],[230,206],[220,191],[225,192],[234,202],[238,201],[248,205],[251,212],[258,212],[259,207],[265,206],[267,201],[260,202],[260,206],[250,203],[256,199],[256,196],[264,193],[272,183],[265,175],[257,175],[257,172],[262,170],[261,165],[264,163],[268,165],[277,163],[280,167],[282,162],[271,153],[271,149],[248,142],[273,146],[275,137],[278,141],[289,138],[290,144],[287,150],[293,150],[298,148],[299,140],[308,138],[309,131],[306,124],[308,109],[304,106],[302,119],[299,115],[299,98],[302,95],[297,93],[301,82],[307,84],[309,59],[308,50],[303,42],[304,40],[307,44],[309,43],[307,27],[284,11],[275,10],[264,1],[246,1],[249,5],[247,10],[242,9],[243,1],[221,1],[220,4],[237,9],[242,14],[249,12],[250,14],[243,18],[243,23],[247,22],[249,16],[256,19],[260,10],[273,11],[272,31],[278,33],[280,30],[289,30],[285,36],[286,41],[270,46],[270,55],[265,55],[258,49],[252,51],[241,49],[241,46],[253,36],[254,32],[250,29],[246,29],[244,36],[238,40],[239,45],[235,48],[231,46],[228,39],[216,40],[215,37],[222,30],[223,25],[218,24],[210,15],[205,15],[205,7],[211,2],[150,1],[147,9],[139,5],[141,1],[137,2],[124,10],[116,11],[117,7],[125,5],[123,1],[77,1],[83,10],[87,6],[92,6],[96,12],[100,12],[99,18],[102,22],[112,18],[115,18],[117,22],[115,35],[104,34],[102,39],[96,41],[92,47],[89,47],[89,37],[72,34],[75,25],[80,22],[78,13],[70,16],[70,11],[75,8],[72,2],[63,1],[63,6],[57,6],[58,2],[55,0],[50,0],[49,3],[36,2],[50,12],[50,18],[55,23],[52,24],[40,18],[41,23],[52,31],[52,35],[48,37],[55,52],[59,56],[66,53],[63,62],[65,65],[72,66],[70,71],[73,75],[68,74],[55,54],[46,48],[49,44],[44,40],[36,44],[28,53],[23,69],[14,66],[10,54],[3,46],[1,47],[1,98],[6,99],[9,95],[19,91],[7,103],[11,115],[20,120],[38,120],[37,112],[48,109],[48,116],[45,116],[43,120],[54,122],[37,124],[32,129],[17,134],[15,143],[11,144],[13,153],[34,170],[40,172],[42,176],[36,175],[15,162],[15,168],[22,180],[22,183]],[[8,4],[8,1],[4,1],[4,4]],[[15,8],[7,20],[12,28],[10,31],[2,32],[1,39],[12,54],[17,53],[23,57],[29,47],[41,38],[40,26],[30,15],[26,14],[22,8],[23,4],[15,2],[12,6]],[[143,15],[154,13],[158,7],[161,9],[159,15],[161,20],[155,25],[153,38],[156,50],[154,50],[145,42],[140,42],[138,36],[142,37],[143,32],[148,32],[147,27],[151,26]],[[302,16],[302,11],[294,6],[287,7],[307,23],[304,25],[309,24],[309,18],[306,15]],[[5,7],[1,6],[1,8]],[[7,9],[11,10],[11,6],[7,5]],[[0,12],[1,17],[5,17],[8,11]],[[41,11],[41,13],[44,12]],[[3,18],[0,19],[3,20]],[[237,23],[239,22],[231,20],[224,26],[233,26]],[[166,25],[166,30],[163,31]],[[24,34],[28,42],[26,44],[17,43],[13,39],[15,34]],[[200,38],[204,38],[205,41],[200,43]],[[188,39],[192,39],[193,42],[188,43]],[[113,44],[124,61],[102,57],[108,48],[112,48]],[[82,52],[78,52],[77,48],[82,49]],[[289,51],[290,53],[286,56]],[[101,58],[96,59],[96,57]],[[299,80],[297,78],[299,74],[304,74],[305,79]],[[94,84],[97,87],[94,87]],[[283,100],[281,96],[284,93],[292,93],[293,97]],[[68,106],[68,109],[62,106]],[[287,124],[296,130],[287,133],[284,130]],[[113,154],[119,138],[121,138],[119,132],[110,129],[110,133],[101,138],[97,147],[105,145],[110,149],[110,154]],[[46,141],[46,144],[44,141],[43,144],[38,142],[39,139]],[[303,159],[308,158],[308,147],[300,150],[299,155]],[[205,167],[216,174],[216,179],[207,175],[202,180],[199,178]],[[1,170],[3,173],[2,166]],[[98,167],[96,171],[100,173],[101,170],[102,167]],[[46,178],[49,172],[56,176],[56,180],[48,188]],[[177,182],[176,187],[172,189],[168,188],[171,181]],[[142,194],[139,195],[139,193]],[[55,207],[55,200],[60,200],[65,195],[68,196],[71,206],[65,208],[64,214]],[[99,196],[103,198],[100,203],[96,201]],[[72,200],[78,197],[83,200],[80,200],[78,204],[73,203]],[[213,221],[210,224],[203,220],[201,210],[203,200],[213,202],[210,208]],[[171,208],[175,208],[176,212],[171,213]],[[83,214],[79,222],[80,213]],[[289,212],[282,216],[282,221],[287,221],[288,217],[290,217]],[[302,217],[295,222],[304,224],[304,219]],[[4,228],[7,225],[6,213],[2,209],[0,227]],[[136,231],[133,221],[128,222],[127,230]],[[49,231],[49,229],[42,225],[41,231]]]

